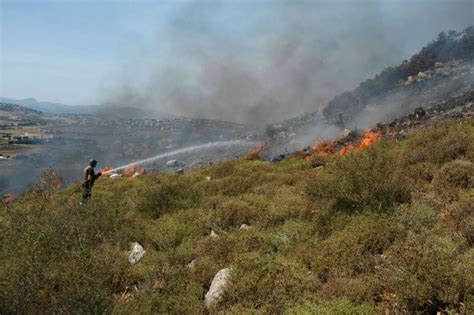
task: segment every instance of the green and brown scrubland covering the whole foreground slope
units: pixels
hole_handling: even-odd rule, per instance
[[[344,156],[102,178],[87,206],[53,177],[0,209],[2,314],[205,313],[224,267],[211,312],[474,313],[473,121]]]

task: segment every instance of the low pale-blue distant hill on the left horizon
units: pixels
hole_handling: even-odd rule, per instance
[[[34,98],[13,99],[0,97],[0,102],[17,104],[30,109],[41,111],[46,114],[93,114],[98,116],[108,116],[113,118],[171,118],[171,114],[150,111],[142,108],[115,106],[115,105],[66,105],[61,103],[42,102]]]

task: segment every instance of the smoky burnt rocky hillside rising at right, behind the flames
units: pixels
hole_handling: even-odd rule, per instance
[[[266,155],[272,158],[301,150],[315,140],[336,138],[345,130],[361,132],[388,124],[418,108],[434,110],[443,104],[462,111],[472,103],[469,95],[473,91],[474,26],[460,33],[442,32],[410,60],[337,95],[322,111],[268,125]],[[458,101],[452,102],[454,99]]]

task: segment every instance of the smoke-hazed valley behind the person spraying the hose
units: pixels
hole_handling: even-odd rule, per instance
[[[236,123],[185,117],[120,118],[120,115],[53,115],[0,103],[0,196],[19,193],[42,169],[54,167],[66,185],[81,177],[94,157],[103,166],[120,165],[183,147],[241,140],[232,148],[176,154],[148,164],[147,170],[189,168],[245,153],[258,136]],[[166,162],[177,159],[173,167]]]

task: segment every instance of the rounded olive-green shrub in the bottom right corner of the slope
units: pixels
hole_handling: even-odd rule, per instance
[[[463,291],[460,244],[450,237],[409,234],[386,252],[381,277],[409,313],[454,309]]]

